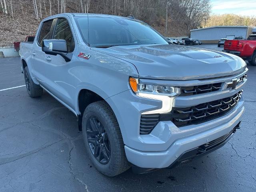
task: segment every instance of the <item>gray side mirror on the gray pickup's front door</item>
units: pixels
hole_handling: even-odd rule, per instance
[[[68,53],[66,40],[62,39],[43,40],[42,51],[49,55],[60,55],[66,62],[69,62],[72,58],[72,54]]]

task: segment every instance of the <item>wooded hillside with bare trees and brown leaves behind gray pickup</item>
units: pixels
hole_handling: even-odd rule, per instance
[[[210,14],[210,0],[0,0],[0,46],[35,34],[43,18],[63,12],[129,16],[166,36],[187,36]]]

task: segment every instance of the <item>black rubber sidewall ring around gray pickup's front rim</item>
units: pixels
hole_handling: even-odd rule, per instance
[[[108,134],[108,140],[110,143],[110,160],[109,160],[108,164],[105,164],[105,165],[100,164],[100,162],[98,162],[98,160],[96,160],[96,158],[92,154],[92,151],[90,150],[90,146],[87,141],[86,127],[87,127],[88,119],[91,116],[97,117],[102,122],[102,125],[104,126],[106,133]],[[83,118],[82,118],[82,128],[83,128],[82,133],[83,133],[83,137],[84,137],[84,144],[86,147],[86,152],[90,156],[90,159],[92,160],[92,163],[94,164],[94,166],[103,174],[108,174],[108,172],[111,172],[111,167],[114,166],[114,161],[113,161],[113,159],[115,159],[114,151],[115,151],[115,147],[117,147],[116,144],[114,143],[113,131],[110,129],[111,124],[108,124],[108,121],[106,121],[107,118],[108,118],[107,114],[104,114],[104,112],[102,112],[102,111],[97,111],[95,108],[93,108],[91,106],[86,108]]]

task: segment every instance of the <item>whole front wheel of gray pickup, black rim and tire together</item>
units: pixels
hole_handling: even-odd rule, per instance
[[[86,107],[82,132],[86,152],[98,171],[106,176],[116,176],[130,168],[116,116],[105,101]]]

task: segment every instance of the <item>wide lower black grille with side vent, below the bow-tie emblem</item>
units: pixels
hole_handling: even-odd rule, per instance
[[[172,108],[166,114],[142,114],[140,118],[140,134],[150,134],[160,121],[172,121],[177,127],[200,124],[230,112],[242,97],[243,90],[237,94],[212,102],[188,108]]]

